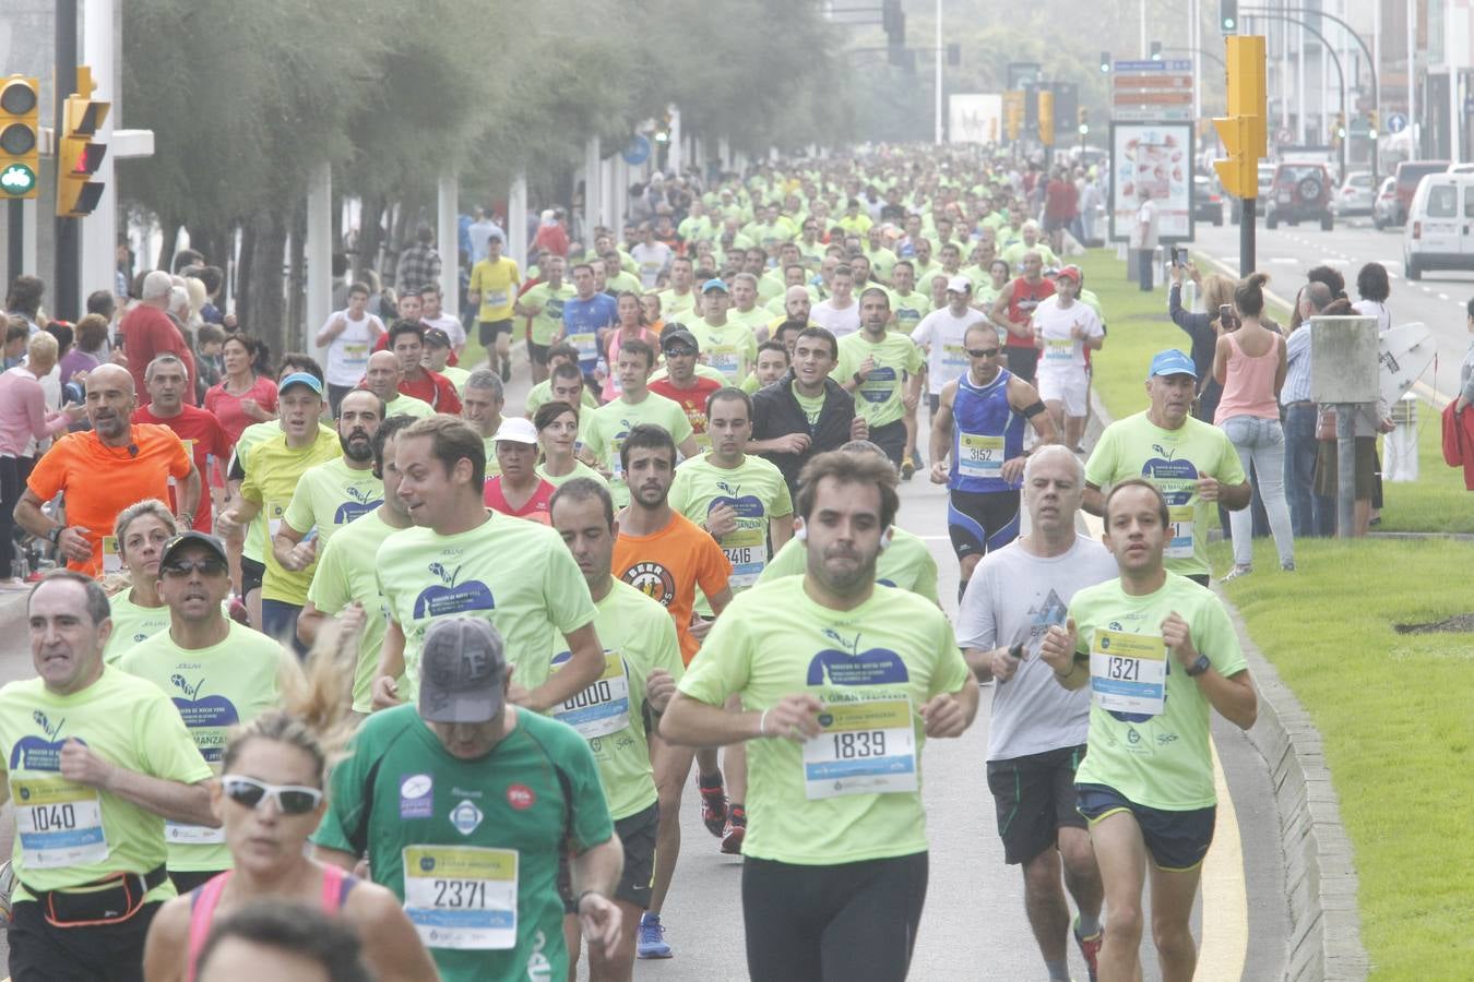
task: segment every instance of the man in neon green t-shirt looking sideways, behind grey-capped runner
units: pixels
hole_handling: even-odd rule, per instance
[[[457,615],[506,636],[513,702],[542,711],[593,685],[604,655],[588,586],[551,529],[486,511],[481,437],[451,417],[420,420],[399,433],[394,459],[416,527],[389,536],[374,562],[389,620],[374,708],[414,698],[426,629]],[[553,674],[557,635],[573,657]]]

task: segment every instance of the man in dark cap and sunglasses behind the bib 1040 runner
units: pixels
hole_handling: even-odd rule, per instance
[[[118,668],[172,699],[205,763],[218,773],[230,729],[276,707],[277,673],[287,655],[265,635],[226,617],[230,564],[214,536],[190,530],[168,542],[159,557],[159,593],[170,626],[124,652]],[[170,876],[181,894],[230,869],[220,827],[167,822],[164,838]]]

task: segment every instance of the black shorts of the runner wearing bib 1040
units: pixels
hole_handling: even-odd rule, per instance
[[[164,904],[153,901],[116,925],[53,928],[37,901],[15,905],[10,978],[15,982],[143,982],[143,939]]]

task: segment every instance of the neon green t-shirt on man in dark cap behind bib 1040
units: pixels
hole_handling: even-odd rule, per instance
[[[119,670],[152,682],[170,696],[217,774],[230,730],[276,708],[277,673],[289,657],[271,637],[228,618],[226,624],[226,640],[209,648],[180,648],[168,630],[161,630],[118,660]],[[165,822],[164,838],[170,870],[199,873],[233,866],[224,829]]]

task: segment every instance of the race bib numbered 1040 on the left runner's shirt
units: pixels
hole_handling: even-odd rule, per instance
[[[10,796],[28,867],[56,869],[108,858],[102,801],[94,788],[62,777],[16,777],[10,782]]]

